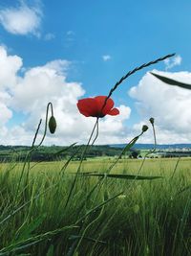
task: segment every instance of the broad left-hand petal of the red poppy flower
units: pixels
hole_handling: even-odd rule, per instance
[[[79,100],[77,107],[79,112],[86,117],[97,115],[97,105],[95,99],[93,98]]]

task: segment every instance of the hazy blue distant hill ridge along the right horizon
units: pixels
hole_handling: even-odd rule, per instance
[[[112,148],[124,148],[126,144],[112,144],[109,145]],[[153,149],[153,144],[136,144],[133,149],[136,150],[151,150]],[[159,150],[168,150],[168,149],[191,149],[191,144],[159,144],[157,145]]]

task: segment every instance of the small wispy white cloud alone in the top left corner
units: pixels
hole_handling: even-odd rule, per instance
[[[39,36],[42,11],[39,6],[29,7],[20,1],[18,7],[10,7],[0,11],[0,23],[13,35]]]

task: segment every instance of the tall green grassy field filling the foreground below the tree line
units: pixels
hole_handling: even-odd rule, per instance
[[[2,163],[0,255],[191,255],[191,159],[142,161]]]

